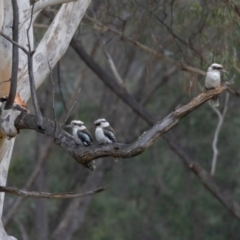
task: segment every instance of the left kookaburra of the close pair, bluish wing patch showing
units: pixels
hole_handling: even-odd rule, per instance
[[[80,120],[73,120],[69,125],[66,127],[72,128],[72,135],[75,141],[81,146],[91,146],[92,145],[92,136],[90,132],[84,125],[84,122]]]

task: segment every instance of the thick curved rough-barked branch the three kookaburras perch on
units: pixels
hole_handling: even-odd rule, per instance
[[[51,137],[56,144],[64,148],[73,158],[79,163],[86,164],[94,159],[113,156],[119,158],[130,158],[137,156],[148,149],[160,136],[168,132],[171,128],[176,126],[178,122],[187,114],[200,107],[204,102],[212,97],[219,95],[222,91],[227,89],[229,83],[200,93],[193,98],[189,103],[179,107],[162,121],[157,122],[152,128],[142,134],[133,143],[122,144],[106,144],[93,145],[90,147],[79,147],[74,138],[61,130],[60,127],[55,128],[55,123],[48,119],[43,119],[42,129],[39,129],[36,123],[36,116],[22,112],[15,120],[15,127],[17,129],[33,129],[37,132]]]

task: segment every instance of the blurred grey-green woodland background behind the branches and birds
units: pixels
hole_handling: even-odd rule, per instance
[[[58,8],[46,9],[36,20],[36,44]],[[163,58],[155,58],[97,23],[139,41]],[[128,92],[158,120],[197,95],[198,83],[204,85],[204,76],[183,71],[166,58],[203,71],[213,62],[221,63],[229,72],[224,80],[234,80],[233,88],[239,89],[237,0],[92,1],[75,37],[115,77],[106,57],[109,54]],[[53,78],[59,122],[81,88],[69,122],[84,121],[94,135],[94,120],[104,117],[123,143],[134,141],[149,128],[71,47],[53,70]],[[53,119],[50,77],[37,93],[44,116]],[[225,95],[220,96],[220,111]],[[239,97],[231,94],[218,139],[214,176],[219,186],[237,201],[240,201],[239,107]],[[29,108],[33,113],[31,103]],[[205,103],[171,130],[208,172],[217,124],[217,114]],[[96,170],[90,172],[51,140],[30,130],[22,131],[17,137],[7,185],[45,192],[86,192],[100,186],[107,189],[73,200],[19,201],[19,197],[6,194],[3,219],[8,233],[23,240],[239,239],[239,221],[161,138],[140,156],[117,163],[110,157],[104,158],[97,160],[96,165]]]

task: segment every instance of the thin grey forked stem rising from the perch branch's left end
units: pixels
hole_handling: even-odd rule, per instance
[[[30,27],[32,25],[32,17],[33,17],[33,8],[34,8],[34,4],[32,5],[32,12],[31,12],[31,19],[30,19],[30,23],[29,26],[27,28],[27,40],[28,40],[28,74],[29,74],[29,82],[30,82],[30,90],[31,90],[31,96],[32,96],[32,100],[33,100],[33,106],[34,106],[34,110],[35,113],[37,115],[37,125],[39,128],[42,127],[42,113],[38,104],[38,99],[37,99],[37,93],[36,93],[36,86],[35,86],[35,80],[34,80],[34,74],[33,74],[33,53],[31,50],[31,43],[30,43],[30,37],[29,37],[29,31],[30,31]]]

